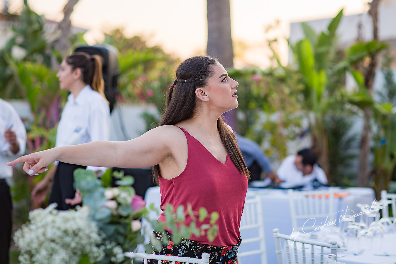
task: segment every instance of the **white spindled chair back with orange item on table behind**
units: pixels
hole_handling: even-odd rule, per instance
[[[333,222],[335,217],[333,188],[315,191],[289,189],[288,195],[291,227],[295,231],[312,231],[316,226],[321,225],[321,221]]]

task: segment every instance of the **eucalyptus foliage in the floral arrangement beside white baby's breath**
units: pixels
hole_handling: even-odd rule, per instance
[[[143,218],[148,220],[156,230],[164,230],[167,226],[172,230],[172,241],[178,243],[181,237],[190,237],[191,234],[205,234],[208,238],[214,239],[217,236],[217,226],[215,223],[218,219],[217,213],[208,215],[206,209],[200,209],[200,218],[197,221],[195,213],[188,211],[193,217],[193,223],[203,222],[207,218],[210,224],[203,225],[200,228],[195,224],[186,226],[185,210],[180,206],[174,208],[168,204],[164,211],[166,223],[151,221],[148,219],[148,211],[144,204],[135,196],[135,190],[130,184],[133,183],[133,177],[124,176],[124,172],[114,172],[113,176],[118,179],[120,184],[118,188],[104,188],[100,179],[97,179],[95,173],[89,170],[76,169],[74,171],[74,187],[78,188],[82,194],[83,205],[89,207],[89,216],[97,223],[100,230],[105,234],[108,241],[120,245],[124,252],[133,251],[136,246],[144,241],[144,234],[141,234],[141,225],[134,229],[135,222]],[[135,202],[137,199],[138,202]],[[141,201],[143,201],[141,199]],[[134,208],[137,207],[137,211]],[[152,207],[152,206],[151,206]],[[205,213],[206,212],[206,213]],[[106,263],[107,258],[102,262]]]

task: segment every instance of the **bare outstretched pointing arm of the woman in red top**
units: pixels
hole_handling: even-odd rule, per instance
[[[96,141],[73,146],[62,146],[35,152],[17,158],[9,166],[25,162],[23,170],[34,175],[59,160],[84,166],[149,167],[161,163],[172,155],[171,140],[177,127],[160,126],[129,141]]]

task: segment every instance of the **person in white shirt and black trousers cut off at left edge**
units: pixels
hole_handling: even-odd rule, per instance
[[[0,98],[0,263],[8,264],[11,244],[12,168],[7,163],[25,153],[26,130],[12,105]]]

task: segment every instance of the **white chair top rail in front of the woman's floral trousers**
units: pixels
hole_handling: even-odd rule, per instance
[[[171,264],[175,264],[178,262],[186,262],[186,264],[196,263],[196,264],[209,264],[209,254],[202,253],[202,258],[188,258],[181,256],[164,256],[164,255],[155,255],[155,254],[146,254],[146,253],[134,253],[134,252],[126,252],[124,256],[133,258],[144,259],[144,264],[147,264],[147,259],[156,259],[156,260],[167,260],[172,261]],[[133,264],[131,260],[131,264]]]

